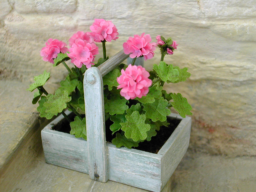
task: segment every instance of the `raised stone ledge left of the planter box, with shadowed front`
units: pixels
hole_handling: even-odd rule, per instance
[[[0,191],[22,178],[42,148],[40,127],[48,121],[38,118],[28,84],[0,81]]]

